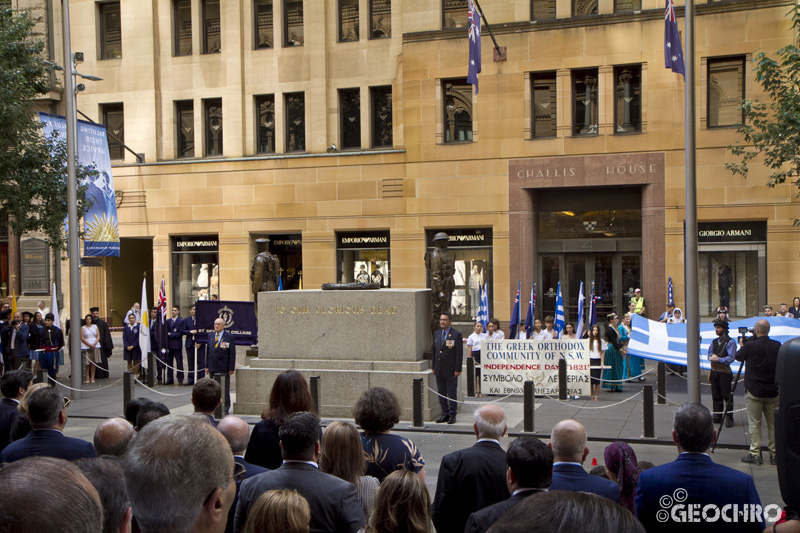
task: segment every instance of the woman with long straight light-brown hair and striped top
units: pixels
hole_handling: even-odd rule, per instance
[[[336,420],[322,433],[319,469],[355,485],[364,516],[369,516],[380,482],[376,477],[364,475],[367,464],[361,435],[352,423]]]

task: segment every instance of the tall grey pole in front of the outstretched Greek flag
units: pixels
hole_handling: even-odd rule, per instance
[[[694,0],[686,0],[686,222],[684,268],[686,277],[686,377],[689,401],[700,402],[700,303],[697,280],[697,175],[695,145]]]

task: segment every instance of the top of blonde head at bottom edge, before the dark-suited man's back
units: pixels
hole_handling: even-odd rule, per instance
[[[296,490],[268,490],[247,516],[244,533],[308,533],[311,509]]]

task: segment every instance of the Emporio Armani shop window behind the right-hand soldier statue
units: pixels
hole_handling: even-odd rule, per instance
[[[455,322],[474,322],[478,318],[480,294],[488,287],[489,315],[493,316],[492,295],[492,229],[491,228],[450,228],[425,230],[427,250],[433,250],[433,237],[439,233],[447,234],[447,255],[455,267],[455,289],[450,304],[450,312]],[[427,273],[427,287],[431,286],[430,272]]]

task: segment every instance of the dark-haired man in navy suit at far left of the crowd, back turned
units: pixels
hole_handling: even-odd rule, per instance
[[[67,461],[95,456],[91,442],[64,436],[67,409],[64,397],[55,387],[44,387],[30,395],[28,418],[33,431],[24,439],[6,446],[0,454],[2,462],[11,463],[33,456],[56,457]]]

